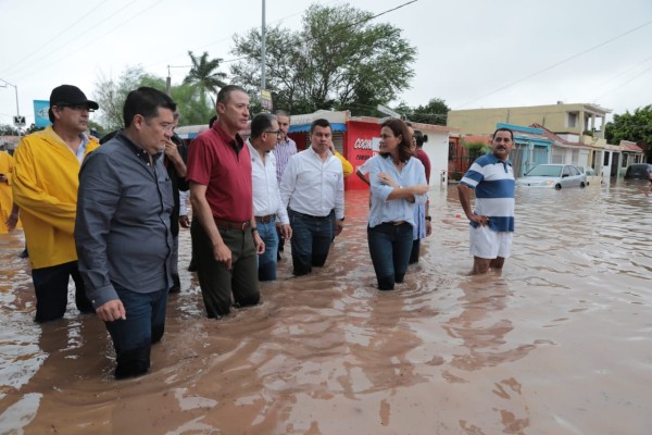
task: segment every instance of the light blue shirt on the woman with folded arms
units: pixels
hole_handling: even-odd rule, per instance
[[[414,202],[406,199],[387,199],[392,192],[393,187],[383,184],[378,174],[390,175],[401,187],[416,186],[426,183],[426,170],[423,163],[411,158],[405,162],[403,170],[399,174],[391,157],[376,154],[365,162],[368,169],[369,183],[372,187],[372,210],[369,211],[369,226],[374,227],[384,222],[405,221],[414,226],[414,207],[415,204],[426,203],[427,195],[415,195]]]

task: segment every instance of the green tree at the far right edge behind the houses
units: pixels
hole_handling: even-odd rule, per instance
[[[647,150],[648,162],[652,162],[652,104],[638,108],[634,113],[614,115],[604,127],[604,137],[609,144],[629,140]]]

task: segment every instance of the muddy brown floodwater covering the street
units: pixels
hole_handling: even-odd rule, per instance
[[[151,372],[112,378],[103,324],[71,302],[33,322],[23,233],[0,235],[0,434],[650,434],[652,196],[644,183],[524,190],[502,275],[467,276],[455,186],[434,234],[379,293],[367,192],[347,194],[326,266],[204,318],[197,277],[168,301]],[[127,313],[128,315],[128,313]]]

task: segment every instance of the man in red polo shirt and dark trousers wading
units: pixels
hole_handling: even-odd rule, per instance
[[[247,128],[249,96],[235,85],[217,94],[217,121],[188,149],[192,250],[209,318],[260,300],[256,256],[265,251],[253,219],[251,156],[238,134]],[[231,302],[233,294],[233,302]]]

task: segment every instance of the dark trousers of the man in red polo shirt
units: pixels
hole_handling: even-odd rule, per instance
[[[215,260],[209,236],[197,219],[190,225],[192,250],[197,261],[197,277],[206,313],[220,319],[230,312],[231,294],[236,307],[255,306],[260,299],[258,260],[253,236],[249,228],[218,227],[222,239],[231,251],[231,269]]]

